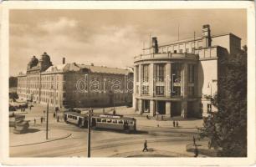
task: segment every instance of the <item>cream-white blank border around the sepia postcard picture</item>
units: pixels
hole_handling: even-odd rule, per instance
[[[8,11],[10,9],[202,9],[246,8],[248,23],[248,157],[247,158],[10,158],[8,156]],[[255,11],[254,3],[248,1],[125,1],[125,2],[3,2],[0,8],[1,57],[0,57],[0,158],[3,164],[62,164],[62,165],[249,165],[255,163]],[[43,161],[44,159],[44,161]]]

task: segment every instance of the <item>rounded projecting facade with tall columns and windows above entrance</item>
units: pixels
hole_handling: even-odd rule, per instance
[[[192,53],[151,53],[135,57],[134,107],[141,114],[196,114],[199,57]]]

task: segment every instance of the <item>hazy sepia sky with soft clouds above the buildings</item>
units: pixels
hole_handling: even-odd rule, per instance
[[[247,43],[244,9],[161,10],[10,10],[10,75],[25,71],[29,60],[46,52],[54,64],[94,63],[125,68],[150,44],[202,35],[210,24],[212,35],[234,33]],[[179,26],[178,26],[179,25]]]

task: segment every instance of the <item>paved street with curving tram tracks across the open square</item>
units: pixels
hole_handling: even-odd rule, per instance
[[[32,111],[28,111],[27,119],[40,117],[42,115],[40,106],[36,106]],[[51,115],[51,112],[50,112]],[[129,152],[141,152],[145,139],[148,142],[148,148],[157,150],[157,153],[172,152],[192,156],[192,153],[186,152],[186,144],[192,143],[192,136],[197,134],[197,129],[173,129],[168,126],[156,127],[151,124],[140,124],[146,121],[146,118],[138,120],[137,134],[124,134],[116,131],[92,130],[91,131],[91,156],[92,157],[110,157],[115,154],[124,154]],[[58,130],[72,134],[69,138],[59,139],[42,144],[31,144],[18,147],[10,147],[10,156],[12,157],[86,157],[87,155],[87,129],[79,129],[73,124],[57,123],[51,118],[49,124],[49,134],[51,129],[54,135],[58,135]],[[165,123],[167,124],[167,123]],[[185,124],[185,123],[184,123]],[[32,125],[32,128],[44,130],[44,124]],[[23,136],[34,134],[12,134],[10,130],[10,144],[15,139],[23,139]],[[41,133],[42,134],[42,133]],[[33,142],[33,139],[31,141]],[[142,153],[142,152],[141,152]],[[142,153],[143,154],[143,153]],[[145,153],[147,154],[147,153]],[[172,154],[173,155],[173,154]]]

